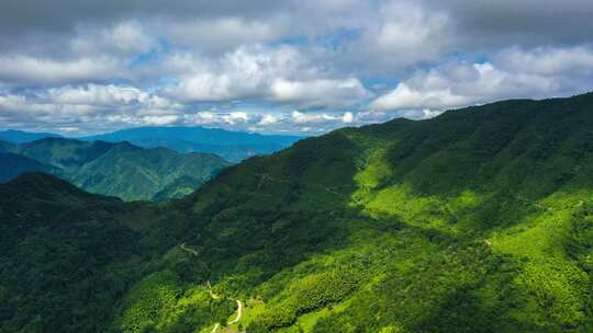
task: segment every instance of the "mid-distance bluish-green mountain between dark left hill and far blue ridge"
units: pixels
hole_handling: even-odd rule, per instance
[[[230,164],[208,153],[178,153],[166,148],[143,149],[128,142],[64,138],[4,145],[1,149],[52,165],[51,173],[87,191],[126,200],[152,199],[157,194],[160,200],[180,197],[189,188],[188,184],[176,188],[174,184],[179,184],[179,179],[189,176],[203,182]],[[19,173],[14,171],[13,175]]]

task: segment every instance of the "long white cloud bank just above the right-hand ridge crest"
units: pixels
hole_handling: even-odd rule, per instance
[[[570,95],[593,89],[589,48],[503,49],[493,61],[421,70],[372,101],[380,111],[443,111],[499,99]]]

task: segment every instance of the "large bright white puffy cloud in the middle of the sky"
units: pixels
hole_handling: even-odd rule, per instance
[[[239,48],[210,62],[195,55],[174,55],[168,68],[186,74],[163,94],[183,102],[247,99],[323,108],[351,105],[370,96],[358,79],[332,78],[293,47]]]

